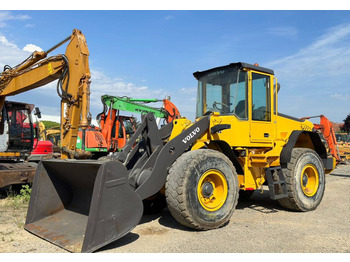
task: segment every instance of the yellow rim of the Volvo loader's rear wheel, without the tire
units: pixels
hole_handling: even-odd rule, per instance
[[[308,164],[303,168],[300,183],[301,189],[306,196],[312,197],[316,194],[319,185],[319,178],[317,169],[314,165]]]

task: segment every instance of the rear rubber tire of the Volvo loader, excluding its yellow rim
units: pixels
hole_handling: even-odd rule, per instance
[[[318,175],[318,188],[313,196],[304,194],[301,186],[301,172],[303,168],[312,164]],[[282,168],[287,183],[288,197],[279,199],[281,206],[296,211],[311,211],[321,203],[326,180],[321,158],[308,148],[294,148],[291,160],[285,168]]]

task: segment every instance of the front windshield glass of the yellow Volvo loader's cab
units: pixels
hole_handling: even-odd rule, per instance
[[[247,119],[247,72],[236,68],[210,71],[198,79],[196,117],[206,112]]]

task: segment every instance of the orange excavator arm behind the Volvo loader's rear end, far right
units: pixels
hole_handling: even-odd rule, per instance
[[[334,132],[332,122],[324,115],[303,117],[302,119],[320,118],[319,124],[314,124],[314,129],[319,132],[321,139],[326,145],[327,151],[336,159],[337,164],[348,164],[350,159],[346,145],[339,145]]]

